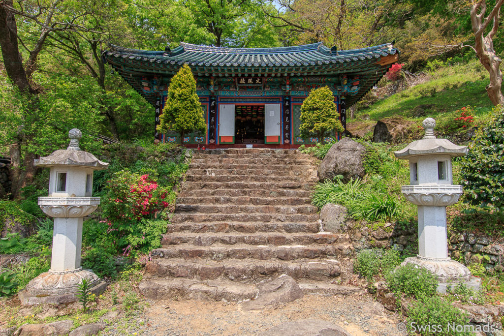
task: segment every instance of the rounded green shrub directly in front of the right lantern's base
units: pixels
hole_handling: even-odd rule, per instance
[[[413,264],[406,264],[396,268],[385,276],[387,286],[401,297],[401,293],[415,298],[430,296],[436,293],[437,278],[423,267]]]

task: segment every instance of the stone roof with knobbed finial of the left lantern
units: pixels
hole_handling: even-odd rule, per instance
[[[69,131],[70,144],[67,149],[60,149],[52,152],[48,156],[35,159],[34,164],[38,167],[53,166],[77,166],[92,168],[94,170],[107,169],[108,163],[98,160],[93,154],[81,151],[79,140],[82,132],[77,128]]]

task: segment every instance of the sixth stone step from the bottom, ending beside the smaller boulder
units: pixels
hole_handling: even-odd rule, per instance
[[[171,222],[175,224],[192,222],[317,222],[319,215],[285,215],[285,214],[202,214],[202,213],[175,213],[171,218]]]

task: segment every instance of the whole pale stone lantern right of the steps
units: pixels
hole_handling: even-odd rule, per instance
[[[418,206],[418,255],[402,264],[412,263],[434,273],[441,293],[458,283],[479,289],[481,279],[472,277],[466,266],[448,257],[446,207],[457,203],[462,195],[462,186],[453,184],[452,158],[465,156],[467,146],[436,139],[435,124],[434,119],[426,118],[424,137],[394,152],[396,158],[409,160],[410,185],[403,185],[401,191]]]

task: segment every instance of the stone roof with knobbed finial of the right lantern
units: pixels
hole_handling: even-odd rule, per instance
[[[394,152],[396,158],[409,159],[412,156],[432,154],[445,154],[456,157],[467,154],[467,146],[458,146],[449,140],[437,139],[434,136],[435,125],[436,122],[432,118],[423,120],[422,126],[425,129],[423,138],[412,142],[400,151]]]

